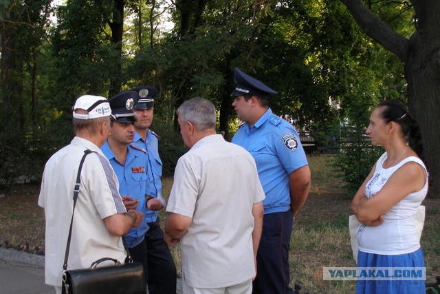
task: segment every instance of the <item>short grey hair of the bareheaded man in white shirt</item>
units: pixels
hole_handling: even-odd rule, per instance
[[[185,101],[177,108],[177,115],[184,125],[190,121],[199,132],[215,129],[217,113],[214,105],[206,99],[195,97]]]

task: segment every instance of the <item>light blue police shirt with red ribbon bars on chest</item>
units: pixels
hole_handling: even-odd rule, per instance
[[[119,193],[122,196],[131,196],[133,200],[139,200],[136,210],[146,213],[145,196],[150,194],[150,187],[147,180],[146,151],[127,145],[127,154],[124,165],[122,165],[115,154],[111,151],[107,141],[101,147],[105,157],[110,162],[119,182]],[[126,245],[129,248],[140,244],[144,240],[148,224],[145,218],[137,228],[131,228],[125,235]]]

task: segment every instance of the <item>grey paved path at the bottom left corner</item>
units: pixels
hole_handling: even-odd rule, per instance
[[[44,282],[44,256],[0,247],[0,294],[54,294]],[[181,293],[181,279],[177,279]]]

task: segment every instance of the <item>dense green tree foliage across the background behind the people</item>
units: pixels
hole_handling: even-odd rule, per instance
[[[8,149],[11,156],[5,156],[19,160],[8,165],[17,167],[18,173],[41,169],[44,158],[69,143],[74,99],[81,94],[108,96],[112,81],[121,81],[122,90],[138,85],[159,90],[153,130],[160,137],[165,174],[173,173],[177,158],[186,150],[174,131],[179,103],[193,96],[208,98],[219,110],[219,129],[226,131],[227,138],[236,131],[230,97],[234,67],[277,90],[279,94],[270,100],[274,112],[288,115],[323,148],[344,138],[341,125],[363,133],[367,115],[382,98],[406,100],[401,63],[360,32],[340,1],[125,1],[121,56],[115,50],[120,44],[113,43],[109,28],[114,17],[112,0],[65,1],[55,8],[57,23],[48,28],[49,2],[26,2],[29,17],[20,22],[0,19],[19,44],[17,69],[0,69],[21,87],[20,94],[12,91],[14,96],[7,100],[12,101],[8,111],[16,112],[19,123],[24,122],[22,132],[10,132],[22,134],[23,138],[14,139],[21,148]],[[408,36],[412,15],[403,6],[373,3],[372,9]],[[20,12],[23,8],[1,7],[0,14],[26,17]],[[176,24],[167,33],[158,26],[164,20],[164,9]],[[115,70],[118,60],[121,71]],[[31,96],[34,64],[39,65],[35,105]],[[5,94],[3,90],[3,109]],[[1,150],[14,140],[2,140]],[[347,156],[347,147],[333,149],[344,150]],[[344,163],[345,169],[358,167],[359,160],[354,158]],[[28,161],[28,167],[19,167]],[[12,178],[13,174],[11,169]]]

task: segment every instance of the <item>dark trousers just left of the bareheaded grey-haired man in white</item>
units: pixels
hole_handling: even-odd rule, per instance
[[[164,231],[160,228],[159,218],[148,222],[150,229],[145,234],[148,255],[148,291],[151,294],[176,293],[176,266],[168,244],[164,240]]]

